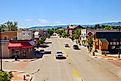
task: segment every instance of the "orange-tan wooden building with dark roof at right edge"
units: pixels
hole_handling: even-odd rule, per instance
[[[121,32],[96,32],[94,35],[94,49],[100,53],[121,53]]]

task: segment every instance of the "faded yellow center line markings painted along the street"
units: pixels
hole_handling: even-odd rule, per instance
[[[68,57],[68,61],[71,62],[71,59],[69,58],[68,54],[66,53],[63,45],[60,43],[59,40],[58,40],[58,44],[59,44],[59,47],[61,48],[62,52],[64,53],[64,56],[66,58]],[[72,68],[71,73],[72,73],[74,81],[83,81],[82,78],[80,77],[79,72],[75,68]]]

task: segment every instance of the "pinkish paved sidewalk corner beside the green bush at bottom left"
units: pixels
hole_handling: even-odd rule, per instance
[[[19,71],[12,71],[12,75],[11,81],[31,81],[33,78],[32,75]]]

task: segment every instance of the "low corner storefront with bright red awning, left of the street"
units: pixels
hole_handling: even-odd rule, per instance
[[[8,44],[10,57],[32,58],[33,46],[28,41],[15,41]]]

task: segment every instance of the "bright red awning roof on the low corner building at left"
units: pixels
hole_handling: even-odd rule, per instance
[[[21,43],[9,43],[8,48],[32,48],[28,42],[21,42]]]

